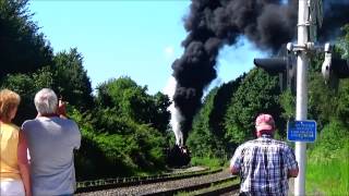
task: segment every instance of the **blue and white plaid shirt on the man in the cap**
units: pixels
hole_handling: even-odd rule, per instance
[[[293,150],[286,143],[262,135],[239,146],[230,167],[240,170],[240,192],[251,195],[287,195],[288,170],[298,168]]]

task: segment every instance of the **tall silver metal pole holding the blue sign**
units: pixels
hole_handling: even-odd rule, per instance
[[[298,10],[298,45],[304,46],[308,42],[309,8],[308,0],[299,0]],[[297,57],[297,107],[296,120],[306,120],[308,113],[308,64],[306,50],[301,50]],[[305,195],[305,164],[306,143],[296,142],[296,159],[299,164],[299,174],[294,180],[294,195]]]

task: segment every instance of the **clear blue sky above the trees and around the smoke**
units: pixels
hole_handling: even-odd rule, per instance
[[[109,78],[130,76],[148,93],[161,91],[171,76],[171,64],[183,48],[183,17],[190,0],[32,0],[33,20],[55,53],[76,47],[93,87]],[[241,38],[218,57],[218,78],[231,81],[262,57]]]

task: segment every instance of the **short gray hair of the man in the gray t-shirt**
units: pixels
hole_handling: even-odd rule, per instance
[[[34,103],[37,112],[40,114],[56,113],[58,105],[57,95],[50,88],[43,88],[35,95]]]

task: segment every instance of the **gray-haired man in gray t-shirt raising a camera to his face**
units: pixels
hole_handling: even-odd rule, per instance
[[[67,119],[65,105],[53,90],[44,88],[35,95],[36,119],[23,123],[31,155],[33,195],[73,195],[75,169],[73,150],[79,149],[81,133]]]

